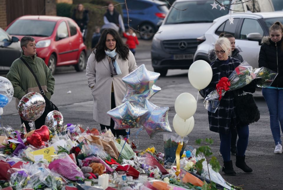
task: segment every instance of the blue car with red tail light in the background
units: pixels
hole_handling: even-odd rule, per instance
[[[119,3],[124,0],[116,0]],[[127,0],[129,9],[129,25],[139,30],[141,39],[152,39],[165,18],[168,8],[167,4],[158,0]],[[122,4],[123,21],[125,28],[128,28],[128,14],[126,5]]]

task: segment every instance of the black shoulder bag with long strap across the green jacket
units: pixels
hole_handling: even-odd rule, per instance
[[[27,68],[29,68],[30,72],[31,72],[32,75],[34,76],[35,81],[36,81],[36,83],[37,83],[37,85],[38,85],[38,87],[39,87],[40,94],[43,96],[43,98],[44,98],[44,100],[45,100],[45,110],[44,110],[44,112],[43,112],[43,114],[42,114],[41,117],[46,118],[46,116],[47,116],[47,114],[48,114],[49,112],[54,111],[54,110],[59,111],[59,109],[57,108],[57,106],[56,106],[54,103],[52,103],[50,100],[48,100],[48,98],[45,96],[45,93],[44,93],[44,91],[42,90],[42,87],[41,87],[41,85],[40,85],[40,83],[39,83],[37,77],[35,76],[35,74],[34,74],[32,68],[27,64],[27,62],[26,62],[22,57],[20,57],[20,59],[24,62],[24,64],[27,66]]]

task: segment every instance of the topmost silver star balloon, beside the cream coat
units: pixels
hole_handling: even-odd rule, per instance
[[[147,93],[154,85],[160,73],[148,71],[144,64],[139,66],[129,75],[122,78],[127,88],[135,91],[136,94]]]

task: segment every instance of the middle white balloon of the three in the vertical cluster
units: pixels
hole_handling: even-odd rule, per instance
[[[195,114],[197,101],[190,93],[184,92],[175,100],[175,111],[182,119],[188,119]]]

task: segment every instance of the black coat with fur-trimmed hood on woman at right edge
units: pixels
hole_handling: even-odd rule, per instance
[[[272,87],[283,87],[283,52],[282,40],[275,43],[267,36],[262,38],[259,52],[259,67],[266,67],[278,73],[272,82]]]

